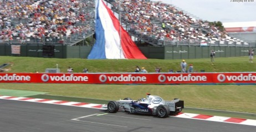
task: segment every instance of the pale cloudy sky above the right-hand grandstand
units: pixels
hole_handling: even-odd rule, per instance
[[[209,22],[256,22],[256,0],[161,0],[161,2],[173,4],[192,14],[194,18]]]

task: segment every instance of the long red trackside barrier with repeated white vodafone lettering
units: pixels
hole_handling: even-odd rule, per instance
[[[0,83],[188,84],[255,82],[256,72],[0,73]]]

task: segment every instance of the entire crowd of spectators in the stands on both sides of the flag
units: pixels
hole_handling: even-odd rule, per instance
[[[152,40],[232,39],[209,22],[197,20],[171,4],[149,0],[106,0],[122,11],[130,30]],[[95,29],[94,0],[0,0],[0,43],[64,43]]]

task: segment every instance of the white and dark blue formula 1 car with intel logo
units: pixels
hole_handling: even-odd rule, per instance
[[[147,98],[138,99],[131,98],[120,99],[119,101],[110,101],[104,104],[102,109],[108,110],[110,113],[117,111],[156,115],[160,118],[166,118],[170,114],[178,114],[184,108],[184,101],[176,98],[173,101],[165,101],[159,96],[151,96],[147,93]]]

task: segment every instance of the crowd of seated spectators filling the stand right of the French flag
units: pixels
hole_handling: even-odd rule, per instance
[[[122,20],[140,36],[171,41],[231,39],[225,31],[207,21],[194,19],[171,4],[146,0],[121,0],[111,4],[113,9],[122,11]]]

